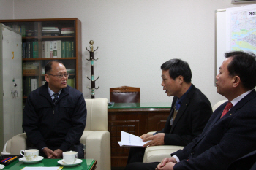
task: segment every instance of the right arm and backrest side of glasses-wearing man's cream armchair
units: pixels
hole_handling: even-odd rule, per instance
[[[86,158],[97,160],[97,169],[111,169],[108,99],[86,99],[86,129],[80,142],[86,146]]]

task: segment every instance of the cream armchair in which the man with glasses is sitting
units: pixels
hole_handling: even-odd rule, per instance
[[[85,144],[86,158],[97,160],[97,169],[110,170],[110,133],[108,131],[108,99],[86,99],[86,128],[80,139]],[[4,145],[1,155],[19,155],[25,150],[26,134],[13,136]]]

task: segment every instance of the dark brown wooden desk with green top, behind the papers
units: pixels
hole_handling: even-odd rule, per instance
[[[129,147],[120,147],[121,131],[140,136],[148,131],[165,127],[171,103],[125,103],[108,107],[108,131],[110,131],[111,166],[127,164]]]

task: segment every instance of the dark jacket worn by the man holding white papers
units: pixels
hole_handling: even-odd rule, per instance
[[[208,98],[192,85],[178,110],[173,125],[170,126],[176,100],[177,97],[175,96],[165,128],[157,131],[157,133],[165,133],[165,145],[186,146],[202,133],[212,114],[211,104]]]

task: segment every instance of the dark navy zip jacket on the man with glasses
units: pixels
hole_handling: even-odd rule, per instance
[[[80,144],[86,126],[86,102],[83,93],[67,85],[53,103],[48,82],[32,91],[23,110],[23,129],[29,142],[39,150],[67,151]]]

